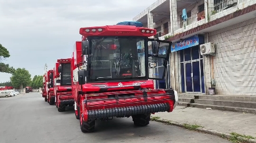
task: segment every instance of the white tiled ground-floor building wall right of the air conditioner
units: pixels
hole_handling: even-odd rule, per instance
[[[255,22],[253,18],[209,33],[217,47],[213,62],[217,94],[256,95]]]

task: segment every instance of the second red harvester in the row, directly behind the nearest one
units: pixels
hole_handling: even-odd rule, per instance
[[[56,84],[59,84],[54,85],[56,107],[59,112],[63,112],[66,106],[72,107],[75,103],[71,88],[71,58],[58,59],[54,73]]]

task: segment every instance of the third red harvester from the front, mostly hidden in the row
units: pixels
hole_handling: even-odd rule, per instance
[[[47,72],[47,101],[50,105],[55,104],[55,95],[54,95],[54,89],[53,89],[53,83],[54,83],[54,78],[53,78],[53,70],[48,70]]]

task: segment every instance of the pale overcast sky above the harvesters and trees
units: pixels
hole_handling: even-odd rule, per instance
[[[70,58],[79,28],[131,21],[156,0],[0,0],[0,43],[10,52],[4,61],[42,75],[45,63]],[[0,82],[11,74],[0,73]]]

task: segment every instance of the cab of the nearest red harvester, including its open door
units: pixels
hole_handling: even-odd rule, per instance
[[[114,29],[116,26],[122,30],[116,31]],[[127,26],[113,25],[104,28],[80,29],[84,37],[83,67],[88,70],[79,71],[79,84],[86,84],[86,80],[103,82],[164,78],[171,42],[149,39],[148,36],[155,35],[155,29],[123,28]],[[163,66],[163,68],[157,72],[156,66]]]

